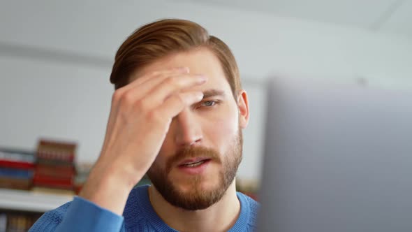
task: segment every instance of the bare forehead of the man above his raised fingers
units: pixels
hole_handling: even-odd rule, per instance
[[[135,73],[137,75],[134,76],[177,67],[188,67],[190,74],[206,75],[207,82],[205,85],[199,87],[200,90],[220,89],[223,92],[231,92],[230,85],[219,59],[207,48],[198,48],[196,50],[190,50],[189,52],[178,52],[163,57],[143,67],[138,73]]]

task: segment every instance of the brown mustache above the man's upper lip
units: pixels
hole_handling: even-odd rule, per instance
[[[221,164],[221,155],[216,150],[207,147],[191,146],[184,147],[183,149],[178,150],[174,155],[172,155],[166,161],[166,171],[167,173],[169,173],[174,166],[177,166],[179,162],[184,159],[193,159],[197,157],[205,157],[206,159],[211,159],[212,161]]]

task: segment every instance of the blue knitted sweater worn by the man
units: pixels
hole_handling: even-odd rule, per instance
[[[73,201],[55,210],[45,212],[29,232],[44,231],[176,231],[165,224],[156,214],[149,201],[147,188],[137,187],[131,191],[124,208],[123,217],[76,196]],[[237,192],[240,215],[229,230],[255,231],[258,203],[249,196]]]

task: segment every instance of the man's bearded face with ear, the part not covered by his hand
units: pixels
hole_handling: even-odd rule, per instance
[[[195,87],[204,98],[172,119],[159,155],[147,175],[166,201],[186,210],[216,203],[233,183],[242,159],[242,131],[247,125],[247,95],[233,98],[219,59],[201,48],[159,59],[143,71],[189,67],[207,76]]]

